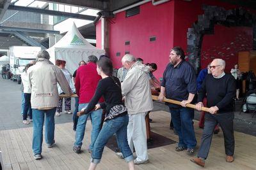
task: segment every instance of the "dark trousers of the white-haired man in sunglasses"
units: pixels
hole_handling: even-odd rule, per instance
[[[234,128],[233,128],[234,113],[217,113],[211,115],[210,113],[205,114],[204,131],[202,134],[201,145],[198,152],[198,157],[207,159],[214,127],[220,124],[223,131],[224,142],[225,142],[225,153],[226,155],[234,155],[235,150],[235,139],[234,139]]]

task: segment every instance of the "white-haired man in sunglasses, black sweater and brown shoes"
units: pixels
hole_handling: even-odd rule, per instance
[[[233,98],[236,96],[236,81],[231,74],[225,74],[225,61],[214,59],[210,66],[212,74],[208,74],[202,83],[202,88],[198,92],[198,103],[196,109],[201,110],[203,99],[207,97],[207,107],[209,113],[205,114],[205,127],[202,134],[201,145],[198,155],[192,162],[199,166],[205,166],[214,127],[220,124],[224,134],[226,161],[234,161],[234,108]]]

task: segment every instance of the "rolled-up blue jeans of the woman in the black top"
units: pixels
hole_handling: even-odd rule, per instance
[[[118,148],[120,148],[122,155],[124,155],[125,161],[130,162],[133,160],[133,155],[127,141],[128,122],[128,115],[125,115],[124,117],[116,117],[104,122],[100,134],[94,144],[91,162],[99,164],[104,146],[108,143],[108,139],[111,138],[113,134],[116,134]]]

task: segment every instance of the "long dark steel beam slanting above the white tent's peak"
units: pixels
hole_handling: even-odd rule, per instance
[[[26,7],[26,6],[10,5],[8,7],[8,10],[28,11],[33,13],[42,13],[47,15],[55,15],[55,16],[61,16],[61,17],[77,18],[77,19],[92,20],[92,21],[96,18],[91,15],[81,15],[79,13],[68,13],[63,11],[44,10],[40,8],[32,8],[32,7]]]

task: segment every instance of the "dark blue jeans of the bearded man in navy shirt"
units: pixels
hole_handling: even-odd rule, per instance
[[[189,108],[170,108],[175,131],[179,134],[180,147],[192,148],[196,146],[194,131],[194,110]]]

